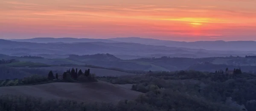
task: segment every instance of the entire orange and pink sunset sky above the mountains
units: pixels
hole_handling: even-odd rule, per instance
[[[0,38],[254,40],[256,0],[0,0]]]

